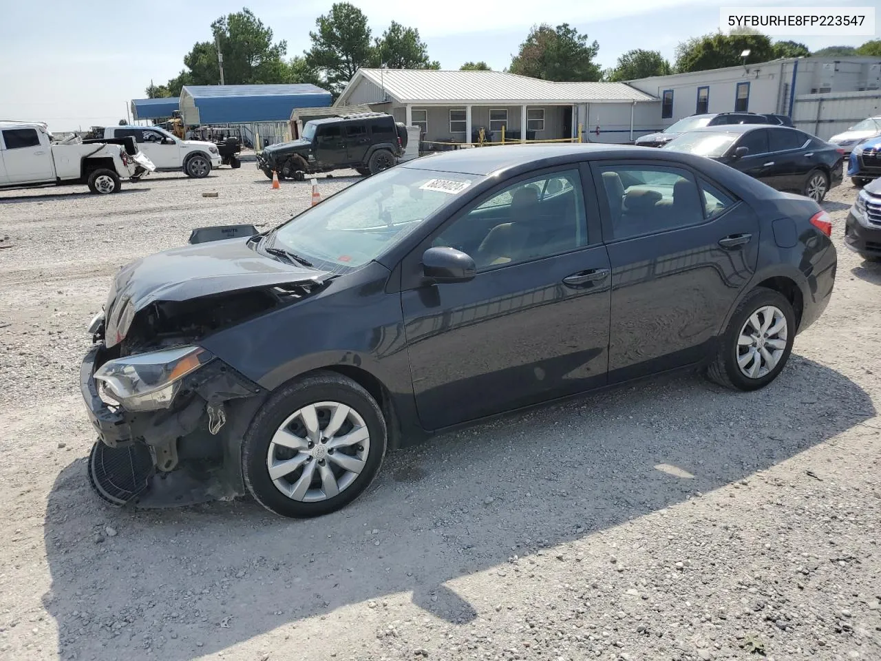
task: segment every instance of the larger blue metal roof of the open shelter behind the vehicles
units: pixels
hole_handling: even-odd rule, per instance
[[[287,122],[293,108],[326,108],[331,96],[321,87],[296,85],[185,85],[181,110],[198,108],[199,123]]]

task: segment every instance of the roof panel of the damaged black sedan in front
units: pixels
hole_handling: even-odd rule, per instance
[[[419,159],[404,161],[399,167],[417,170],[488,176],[514,168],[554,167],[581,160],[603,158],[639,160],[678,160],[691,163],[688,154],[637,147],[631,145],[584,145],[564,143],[557,145],[493,145],[437,152]]]

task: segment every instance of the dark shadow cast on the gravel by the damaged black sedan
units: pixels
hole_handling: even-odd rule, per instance
[[[874,414],[854,382],[795,354],[752,393],[662,377],[400,450],[358,501],[307,521],[251,501],[110,509],[78,459],[48,497],[44,603],[64,659],[202,657],[344,605],[383,609],[401,592],[467,623],[478,605],[448,581],[746,479]],[[731,502],[722,516],[737,534]],[[329,632],[337,622],[328,616]]]

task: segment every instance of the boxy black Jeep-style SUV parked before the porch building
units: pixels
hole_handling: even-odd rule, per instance
[[[307,122],[302,137],[257,152],[257,167],[270,179],[273,171],[279,179],[300,179],[343,167],[375,175],[394,166],[406,146],[406,127],[392,115],[327,117]]]

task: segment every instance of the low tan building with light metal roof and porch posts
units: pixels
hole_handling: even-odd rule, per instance
[[[398,122],[426,142],[571,139],[633,140],[634,123],[658,114],[660,100],[626,83],[555,83],[505,71],[361,69],[335,106],[388,103]],[[502,129],[504,127],[504,130]],[[603,135],[604,134],[604,135]]]

